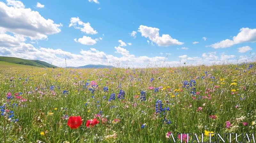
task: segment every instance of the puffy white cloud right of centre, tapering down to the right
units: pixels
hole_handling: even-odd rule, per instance
[[[173,39],[168,34],[163,34],[162,37],[160,37],[158,28],[140,25],[138,32],[141,33],[141,36],[149,38],[149,40],[151,40],[152,43],[155,42],[158,46],[166,47],[166,46],[183,44],[182,42],[176,39]]]

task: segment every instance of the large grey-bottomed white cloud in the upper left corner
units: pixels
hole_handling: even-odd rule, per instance
[[[10,5],[7,6],[7,5]],[[0,29],[13,34],[29,37],[31,40],[47,39],[47,35],[59,33],[62,24],[44,19],[39,12],[25,8],[20,1],[0,2]]]

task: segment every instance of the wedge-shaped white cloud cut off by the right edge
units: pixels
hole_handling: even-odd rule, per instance
[[[233,40],[226,39],[226,40],[217,42],[215,44],[208,45],[206,47],[212,47],[214,49],[227,48],[235,44],[240,44],[244,42],[255,42],[255,41],[256,41],[256,29],[241,28],[240,32],[233,37]]]

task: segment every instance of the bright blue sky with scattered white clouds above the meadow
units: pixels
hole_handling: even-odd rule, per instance
[[[24,6],[20,6],[20,3]],[[40,3],[44,6],[41,6],[40,8],[40,6],[37,6],[37,3]],[[140,58],[138,58],[140,56],[147,56],[148,58],[150,58],[149,62],[155,61],[159,64],[161,60],[164,60],[163,57],[167,56],[166,53],[169,53],[167,61],[170,62],[170,64],[177,64],[177,61],[179,61],[180,59],[182,62],[187,61],[188,63],[205,63],[205,61],[207,61],[207,63],[212,63],[211,59],[214,59],[214,61],[218,61],[219,63],[227,59],[240,58],[245,60],[245,56],[250,56],[250,52],[251,56],[253,56],[252,54],[256,52],[256,42],[254,42],[256,41],[256,20],[254,18],[256,17],[256,9],[254,8],[255,4],[256,1],[252,0],[163,0],[157,2],[146,0],[83,0],[76,2],[57,0],[22,0],[18,3],[16,1],[7,0],[2,2],[2,9],[4,10],[8,9],[7,7],[16,7],[16,9],[30,8],[31,11],[38,11],[41,17],[43,17],[44,19],[51,19],[54,22],[49,24],[49,26],[44,26],[44,20],[37,19],[36,17],[33,18],[31,14],[25,13],[23,16],[23,13],[18,15],[17,19],[13,19],[9,16],[7,16],[7,18],[4,17],[5,22],[2,24],[0,23],[0,32],[1,27],[3,27],[2,34],[4,33],[5,39],[6,37],[8,37],[8,35],[17,39],[17,36],[15,37],[14,35],[19,35],[26,39],[20,40],[20,43],[27,44],[26,46],[28,47],[30,46],[28,44],[31,44],[33,48],[38,50],[32,51],[34,52],[33,55],[42,51],[44,51],[44,53],[41,53],[41,55],[44,55],[45,52],[50,52],[47,51],[47,49],[52,49],[54,51],[54,55],[52,55],[51,57],[42,57],[40,55],[31,57],[22,53],[22,51],[17,50],[19,49],[17,47],[15,49],[15,47],[13,48],[13,46],[2,46],[4,44],[1,45],[1,43],[0,48],[2,47],[2,51],[4,51],[3,48],[5,48],[5,50],[9,49],[9,52],[2,52],[2,56],[16,56],[28,59],[39,59],[44,60],[48,63],[53,62],[56,65],[61,64],[58,61],[54,61],[54,59],[56,60],[56,57],[60,58],[58,60],[63,60],[63,58],[65,59],[68,57],[68,64],[76,66],[86,65],[86,63],[104,64],[106,63],[104,62],[106,61],[106,59],[104,59],[105,57],[107,57],[112,63],[114,63],[115,60],[124,59],[124,64],[128,63],[132,65],[136,64],[137,61],[140,60]],[[6,15],[8,15],[7,10],[6,13]],[[26,26],[24,26],[25,28],[19,27],[18,23],[22,22],[18,20],[19,17],[27,19],[27,21],[31,19],[36,19],[36,25],[38,23],[41,23],[45,29],[51,29],[53,26],[52,24],[57,24],[59,26],[56,27],[59,30],[49,30],[48,32],[44,32],[43,30],[40,31],[40,29],[38,28],[40,27],[40,24],[38,24],[39,26],[35,26],[35,24],[31,26],[29,22]],[[86,33],[81,31],[81,29],[78,29],[77,27],[83,28],[83,26],[79,25],[78,22],[75,22],[72,26],[69,26],[71,24],[71,18],[77,17],[79,17],[79,20],[84,24],[89,22],[91,28],[93,28],[94,30],[94,34],[92,34],[93,32]],[[14,24],[12,27],[9,26],[9,22],[13,23],[13,21],[17,22],[17,25]],[[31,26],[32,28],[26,28],[29,26]],[[146,29],[148,28],[149,30],[152,30],[153,28],[158,28],[159,36],[142,36],[142,34],[147,34],[147,31],[146,29],[141,30],[141,28],[143,27],[140,26],[143,26]],[[33,37],[30,36],[31,34],[27,34],[28,32],[32,33],[33,30],[31,29],[35,29],[35,27],[38,28],[35,30],[35,33],[46,35],[47,38],[45,38],[44,36],[43,38],[40,36]],[[22,32],[20,32],[20,29],[22,29]],[[153,31],[157,33],[157,31],[155,30],[156,29],[153,29]],[[131,34],[129,34],[132,33],[132,31],[135,31],[137,33],[136,38],[132,37]],[[167,39],[165,39],[167,41],[170,40],[169,43],[159,41],[163,40],[162,34],[168,34],[169,36],[171,36],[171,40],[169,37],[166,37]],[[81,38],[82,41],[83,36],[91,37],[92,40],[95,40],[97,38],[97,40],[95,41],[96,43],[91,43],[90,45],[88,45],[88,42],[86,43],[86,41],[86,44],[79,42],[79,38]],[[235,39],[233,39],[234,36],[236,36]],[[204,40],[203,37],[206,37],[206,40]],[[99,38],[102,38],[102,40],[100,40]],[[152,40],[152,38],[155,38],[155,40]],[[76,39],[77,42],[74,39]],[[176,43],[171,42],[173,39],[178,40],[179,43],[177,44],[177,41]],[[229,39],[231,41],[223,41],[226,39]],[[119,40],[125,42],[127,46],[120,46],[118,52],[118,49],[115,49],[115,47],[118,47],[120,45],[120,42],[118,42]],[[31,43],[30,41],[35,43]],[[147,41],[149,41],[149,43]],[[152,44],[151,41],[153,41]],[[159,43],[157,43],[157,41]],[[193,42],[198,43],[193,44]],[[220,44],[215,44],[218,42],[220,42]],[[128,43],[132,43],[132,45],[128,45]],[[227,44],[229,46],[226,46]],[[20,45],[18,45],[18,47],[19,46]],[[181,49],[182,47],[185,48]],[[111,59],[112,56],[100,56],[100,60],[98,60],[97,58],[84,59],[82,56],[90,57],[93,54],[82,54],[81,50],[88,51],[91,50],[91,48],[95,49],[94,52],[98,54],[102,52],[100,55],[104,53],[105,55],[112,55],[113,58]],[[240,52],[237,48],[241,48]],[[62,54],[61,52],[58,54],[57,49],[61,49]],[[29,49],[27,50],[29,53]],[[93,50],[91,51],[93,52]],[[127,54],[127,51],[129,52],[129,54]],[[245,51],[245,53],[243,51]],[[75,55],[73,55],[72,57],[67,56],[69,55],[68,53]],[[205,53],[206,56],[203,56],[203,53]],[[74,56],[76,55],[81,57],[74,58]],[[129,60],[129,56],[131,55],[134,56],[133,60]],[[208,60],[205,60],[206,58]],[[147,60],[143,61],[140,64],[147,64],[148,61],[146,61]]]

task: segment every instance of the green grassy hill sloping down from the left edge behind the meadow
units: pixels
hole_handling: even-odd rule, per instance
[[[43,61],[27,60],[27,59],[21,59],[21,58],[17,58],[17,57],[0,56],[0,61],[7,62],[7,63],[13,63],[13,64],[36,66],[36,67],[42,67],[42,68],[47,68],[47,67],[48,68],[57,68],[57,66],[48,64]]]

